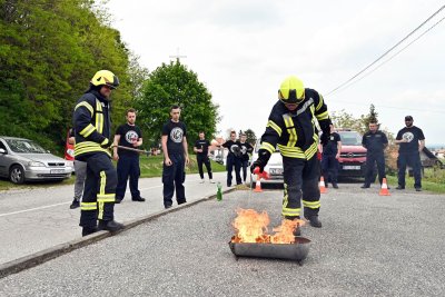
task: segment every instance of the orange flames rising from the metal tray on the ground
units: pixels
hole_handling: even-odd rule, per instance
[[[293,244],[295,228],[305,225],[305,221],[300,219],[284,219],[280,226],[273,228],[275,234],[268,235],[270,219],[266,211],[258,214],[254,209],[239,208],[237,214],[233,222],[237,231],[231,239],[233,242]]]

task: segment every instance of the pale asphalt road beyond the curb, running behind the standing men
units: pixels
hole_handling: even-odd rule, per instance
[[[225,172],[214,176],[226,185]],[[208,179],[199,184],[198,175],[188,175],[185,185],[188,201],[216,194],[216,185]],[[115,207],[117,221],[127,222],[164,210],[160,178],[140,179],[139,189],[147,201],[131,201],[127,187],[123,201]],[[80,208],[69,209],[72,197],[73,185],[0,191],[0,265],[80,238]]]

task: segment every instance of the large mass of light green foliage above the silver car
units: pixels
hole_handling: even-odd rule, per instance
[[[140,86],[137,60],[93,0],[0,0],[0,133],[62,151],[73,107],[100,69],[121,82],[116,122]],[[138,72],[139,71],[139,72]]]

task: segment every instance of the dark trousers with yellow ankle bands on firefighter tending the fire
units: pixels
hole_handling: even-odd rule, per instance
[[[320,208],[318,179],[320,166],[317,156],[305,160],[283,156],[285,190],[283,216],[294,219],[300,216],[301,199],[305,217],[317,216]]]

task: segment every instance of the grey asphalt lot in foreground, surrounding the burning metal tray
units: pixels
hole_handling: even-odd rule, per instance
[[[0,279],[0,296],[444,296],[445,197],[340,184],[323,195],[309,255],[239,258],[235,209],[280,220],[281,191],[234,191]]]

